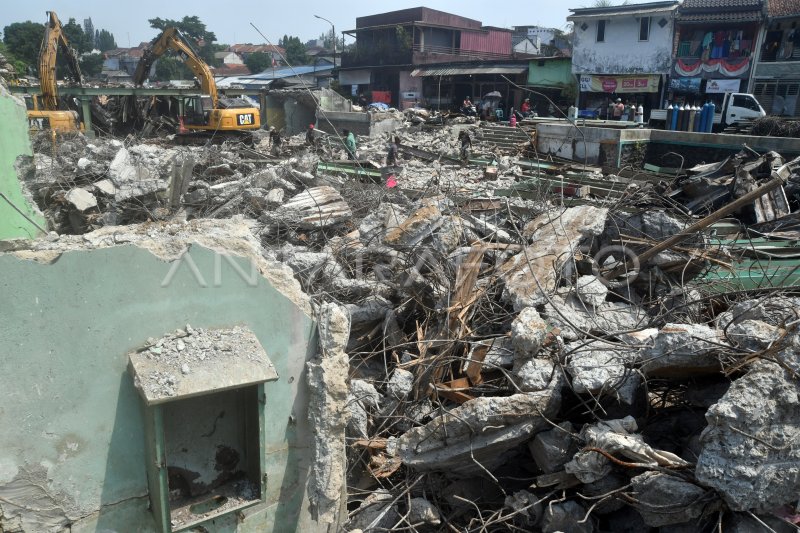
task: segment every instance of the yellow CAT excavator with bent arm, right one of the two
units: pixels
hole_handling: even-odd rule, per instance
[[[202,93],[181,97],[179,135],[213,135],[218,139],[231,135],[249,136],[249,130],[261,126],[257,108],[241,98],[221,98],[217,94],[211,69],[177,28],[165,29],[145,50],[133,75],[134,85],[144,83],[153,63],[168,50],[177,52],[192,70],[200,82]]]

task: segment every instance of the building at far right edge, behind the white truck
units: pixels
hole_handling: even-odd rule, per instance
[[[769,0],[748,92],[767,113],[797,117],[800,93],[800,0]]]

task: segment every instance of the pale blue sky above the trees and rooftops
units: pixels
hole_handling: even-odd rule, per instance
[[[357,16],[372,15],[395,9],[424,5],[457,15],[477,19],[487,25],[511,27],[543,25],[563,28],[570,7],[585,7],[593,0],[575,3],[553,0],[506,0],[502,3],[453,0],[410,2],[384,0],[366,5],[361,2],[300,0],[276,2],[225,2],[220,0],[0,0],[0,29],[12,22],[32,20],[44,22],[45,12],[54,10],[62,22],[74,17],[78,22],[91,17],[95,28],[114,34],[121,47],[135,46],[156,35],[147,23],[150,18],[179,19],[197,15],[216,33],[219,42],[232,44],[261,43],[263,39],[250,26],[252,22],[274,44],[284,34],[297,35],[306,41],[327,31],[330,25],[314,18],[330,19],[337,33],[355,28]]]

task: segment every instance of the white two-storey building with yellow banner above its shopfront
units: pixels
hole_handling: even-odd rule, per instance
[[[617,98],[641,103],[645,118],[660,105],[672,68],[677,1],[571,9],[572,73],[578,107],[607,116]]]

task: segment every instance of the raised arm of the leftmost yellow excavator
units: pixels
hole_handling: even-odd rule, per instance
[[[39,84],[42,89],[42,107],[47,111],[58,110],[58,87],[56,85],[56,58],[59,50],[67,60],[73,79],[83,85],[83,75],[78,63],[78,54],[69,45],[55,12],[47,12],[44,39],[39,50]]]

